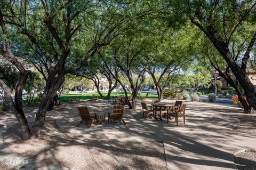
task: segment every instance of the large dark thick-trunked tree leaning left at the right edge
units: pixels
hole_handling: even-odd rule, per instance
[[[210,39],[243,87],[250,107],[256,109],[256,91],[246,75],[246,66],[256,41],[256,2],[218,0],[183,2],[179,5],[179,12],[181,7],[185,7],[183,10],[187,11],[181,13],[187,13],[191,23]],[[237,41],[238,38],[243,40]],[[237,51],[231,51],[234,46],[237,46]]]

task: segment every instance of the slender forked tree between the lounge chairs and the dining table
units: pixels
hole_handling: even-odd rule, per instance
[[[129,37],[127,37],[129,36]],[[134,38],[137,37],[137,38]],[[136,110],[137,94],[145,79],[145,72],[154,59],[147,45],[151,40],[134,33],[117,39],[112,44],[113,56],[117,67],[126,75],[132,91],[132,109]],[[135,77],[135,79],[134,79]]]

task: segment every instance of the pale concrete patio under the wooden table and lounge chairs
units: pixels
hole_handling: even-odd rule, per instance
[[[47,113],[46,121],[56,120],[57,125],[67,133],[93,135],[106,140],[162,141],[168,169],[236,169],[234,154],[244,149],[256,149],[255,134],[233,130],[239,124],[237,116],[242,115],[241,109],[214,106],[210,103],[187,104],[186,125],[180,120],[179,126],[176,126],[174,120],[169,124],[166,119],[151,119],[149,122],[143,120],[138,103],[137,111],[125,108],[126,126],[117,122],[115,127],[110,123],[103,126],[94,123],[91,128],[87,128],[84,123],[79,128],[75,127],[80,120],[76,107],[87,105],[100,114],[107,114],[112,112],[113,106],[105,101],[65,103]],[[27,115],[29,122],[34,121],[34,111],[27,110],[30,113]],[[5,127],[0,128],[3,131],[6,131],[6,126],[16,123],[15,118],[10,115],[7,119],[0,119],[0,124]],[[2,154],[0,152],[0,156]]]

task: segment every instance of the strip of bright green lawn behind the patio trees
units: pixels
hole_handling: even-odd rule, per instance
[[[80,100],[91,100],[92,99],[92,94],[94,94],[94,96],[98,99],[101,99],[100,95],[98,93],[85,93],[85,94],[62,94],[60,96],[60,102],[70,102],[70,97],[71,96],[76,96],[76,99],[80,99]],[[102,93],[102,95],[104,97],[107,96],[107,93]],[[120,95],[125,95],[125,93],[120,92],[120,93],[111,93],[111,96],[120,96]],[[128,93],[128,95],[131,95],[131,93]],[[143,96],[146,96],[146,93],[141,93],[140,94],[141,98]],[[149,94],[148,95],[149,99],[154,99],[154,98],[158,98],[157,95],[154,94]]]

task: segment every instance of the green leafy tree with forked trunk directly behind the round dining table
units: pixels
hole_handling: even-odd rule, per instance
[[[153,78],[159,100],[163,99],[163,88],[169,79],[180,69],[186,69],[192,61],[193,50],[189,36],[191,34],[185,30],[171,29],[168,34],[163,34],[157,44],[156,56],[148,67],[148,72]]]

